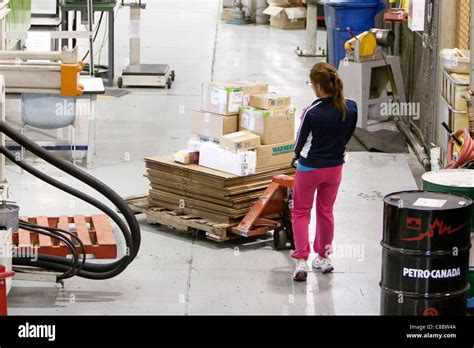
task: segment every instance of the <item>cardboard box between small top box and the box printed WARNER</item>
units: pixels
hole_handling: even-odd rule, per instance
[[[261,110],[244,107],[240,115],[239,129],[259,135],[262,145],[294,140],[295,108]]]

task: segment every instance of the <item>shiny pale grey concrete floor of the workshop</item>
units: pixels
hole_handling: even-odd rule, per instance
[[[293,52],[304,42],[304,31],[226,25],[218,21],[218,12],[217,0],[148,4],[143,16],[143,61],[172,64],[177,80],[172,90],[134,89],[122,98],[99,100],[97,156],[88,172],[121,195],[147,191],[143,157],[171,153],[186,143],[190,112],[199,107],[203,81],[268,81],[272,90],[292,95],[300,111],[312,101],[305,81],[317,60]],[[120,69],[128,53],[128,10],[119,12],[116,27]],[[8,108],[8,119],[18,122],[18,105],[11,102]],[[81,120],[81,140],[87,136],[86,126],[87,120]],[[82,188],[48,165],[30,161]],[[21,175],[12,165],[7,175],[12,200],[20,204],[22,215],[95,212],[30,175]],[[15,281],[10,313],[378,314],[382,197],[415,189],[416,182],[406,155],[352,153],[344,177],[335,208],[336,269],[331,275],[314,272],[307,283],[296,284],[291,280],[294,262],[289,251],[273,250],[270,239],[217,244],[150,226],[140,216],[142,249],[119,277],[72,279],[64,289]],[[314,212],[310,229],[314,230]]]

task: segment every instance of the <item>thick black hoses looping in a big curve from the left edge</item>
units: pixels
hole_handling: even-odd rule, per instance
[[[122,273],[127,268],[127,266],[135,259],[140,249],[141,243],[140,226],[138,225],[135,215],[133,214],[129,206],[125,203],[125,201],[115,191],[113,191],[107,185],[102,183],[100,180],[97,180],[90,174],[75,167],[71,163],[51,155],[48,151],[44,150],[41,146],[17,132],[4,121],[0,121],[0,132],[4,133],[10,139],[23,146],[24,148],[28,149],[30,152],[32,152],[39,158],[45,160],[46,162],[50,163],[54,167],[73,176],[84,184],[92,187],[94,190],[109,199],[125,218],[124,221],[118,216],[118,214],[113,209],[109,208],[101,201],[44,174],[43,172],[39,171],[38,169],[32,167],[31,165],[25,162],[18,161],[12,152],[10,152],[6,147],[0,146],[0,153],[3,154],[9,160],[13,161],[23,170],[29,172],[38,179],[64,192],[67,192],[70,195],[77,197],[101,210],[102,212],[107,214],[122,231],[123,236],[125,238],[126,250],[124,256],[121,259],[108,264],[84,262],[81,267],[76,270],[76,272],[71,272],[70,274],[77,275],[82,278],[99,280],[110,279]],[[77,263],[77,260],[71,260],[65,257],[50,255],[39,255],[38,260],[36,261],[33,261],[28,258],[13,258],[14,265],[40,267],[51,271],[64,272],[67,274],[67,276],[69,276],[68,272],[71,267],[73,267],[74,262]]]

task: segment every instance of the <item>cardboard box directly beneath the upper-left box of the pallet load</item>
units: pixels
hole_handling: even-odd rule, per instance
[[[191,131],[200,137],[218,140],[221,136],[239,130],[238,116],[222,116],[206,111],[193,111]]]

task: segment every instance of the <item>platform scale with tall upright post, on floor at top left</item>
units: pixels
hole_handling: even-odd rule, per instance
[[[118,87],[167,87],[170,89],[176,75],[168,64],[140,63],[140,19],[141,11],[146,9],[146,4],[141,0],[126,4],[122,0],[122,6],[130,7],[130,64],[123,70],[122,77],[118,78]]]

